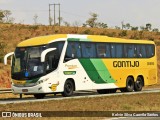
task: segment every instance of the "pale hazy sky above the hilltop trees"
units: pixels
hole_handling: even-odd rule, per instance
[[[121,22],[132,26],[152,24],[160,29],[160,0],[0,0],[0,10],[10,10],[15,23],[49,24],[49,4],[61,4],[61,17],[71,25],[85,23],[90,13],[98,14],[98,21],[109,27],[121,26]],[[53,17],[53,6],[51,16]],[[58,18],[58,6],[56,7]],[[58,22],[58,20],[57,20]]]

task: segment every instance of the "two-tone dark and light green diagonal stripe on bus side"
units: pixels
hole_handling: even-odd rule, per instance
[[[79,59],[88,76],[95,83],[115,83],[100,59]]]

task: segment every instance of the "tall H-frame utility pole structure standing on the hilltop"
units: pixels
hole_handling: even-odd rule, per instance
[[[61,19],[60,19],[60,3],[59,4],[49,4],[49,25],[51,25],[51,5],[54,5],[54,25],[56,24],[56,5],[59,6],[59,26],[61,23]]]

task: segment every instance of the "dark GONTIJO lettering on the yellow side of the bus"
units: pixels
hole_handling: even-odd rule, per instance
[[[113,67],[139,67],[139,61],[113,61]]]

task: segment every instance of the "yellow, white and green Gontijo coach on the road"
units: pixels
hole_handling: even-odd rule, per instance
[[[157,83],[153,41],[58,34],[19,43],[5,64],[10,55],[13,93],[35,98],[90,89],[100,94],[141,91]]]

